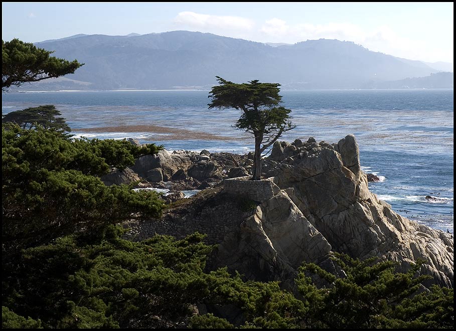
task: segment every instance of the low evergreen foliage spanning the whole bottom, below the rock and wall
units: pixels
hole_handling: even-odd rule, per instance
[[[225,316],[195,315],[197,304],[236,307],[242,328],[452,328],[453,290],[425,277],[395,273],[392,263],[339,256],[346,277],[305,264],[296,279],[301,296],[278,282],[244,282],[226,268],[205,272],[212,247],[204,236],[119,239],[120,227],[76,234],[22,251],[4,261],[3,326],[59,328],[233,328]],[[306,273],[331,283],[317,288]],[[414,295],[416,294],[416,295]],[[8,308],[6,308],[8,307]],[[30,316],[28,319],[22,316]]]

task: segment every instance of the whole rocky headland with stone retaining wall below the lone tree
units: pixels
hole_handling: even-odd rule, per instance
[[[131,233],[208,233],[208,242],[219,244],[213,267],[227,265],[247,279],[281,280],[291,289],[305,261],[343,275],[330,259],[333,252],[396,261],[399,271],[423,259],[422,273],[452,287],[451,235],[403,218],[369,192],[353,135],[336,144],[276,142],[265,164],[275,185],[264,199],[243,195],[241,179],[223,181],[166,211],[160,222],[136,224]]]

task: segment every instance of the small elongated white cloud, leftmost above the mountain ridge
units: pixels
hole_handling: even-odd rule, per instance
[[[211,29],[251,30],[254,26],[254,22],[252,20],[242,17],[215,16],[197,14],[193,12],[179,13],[174,19],[174,22],[191,28],[201,29],[204,30],[204,32]]]

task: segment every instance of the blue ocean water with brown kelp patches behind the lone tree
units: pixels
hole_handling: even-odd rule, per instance
[[[236,110],[208,110],[209,91],[3,93],[2,113],[44,104],[59,109],[77,137],[133,137],[141,143],[246,153],[251,137]],[[453,90],[281,91],[295,138],[337,142],[354,134],[369,188],[411,220],[453,232]],[[426,199],[426,196],[434,199]]]

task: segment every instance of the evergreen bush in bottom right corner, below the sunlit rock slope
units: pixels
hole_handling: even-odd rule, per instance
[[[336,277],[308,263],[299,269],[296,285],[310,307],[307,324],[323,328],[452,327],[453,290],[421,283],[421,261],[406,273],[395,272],[391,261],[376,257],[360,261],[336,253],[335,261],[346,273]],[[318,274],[330,284],[318,289],[306,273]],[[421,291],[421,293],[419,293]]]

